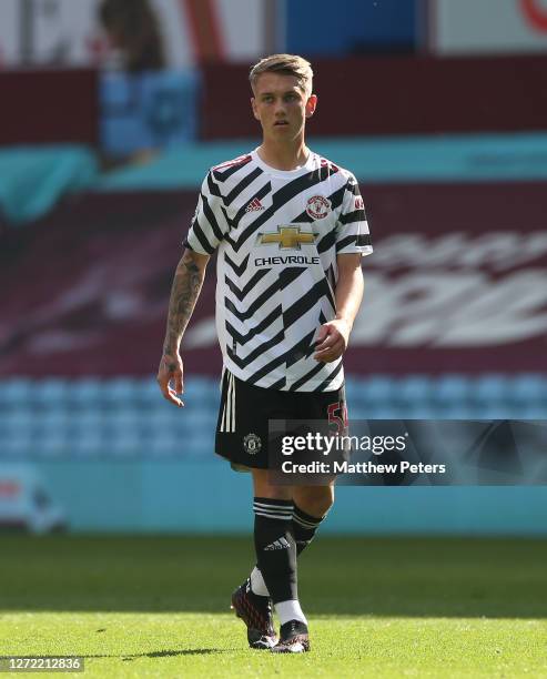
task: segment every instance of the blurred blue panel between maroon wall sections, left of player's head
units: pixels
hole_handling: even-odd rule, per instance
[[[195,71],[101,77],[101,146],[109,156],[182,144],[196,136]]]

